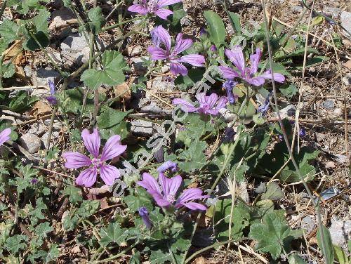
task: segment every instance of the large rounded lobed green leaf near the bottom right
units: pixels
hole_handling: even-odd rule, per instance
[[[296,232],[292,231],[286,223],[284,210],[273,211],[263,216],[263,223],[253,223],[250,227],[249,237],[257,240],[258,251],[270,253],[276,260],[283,249],[289,253],[289,246]]]

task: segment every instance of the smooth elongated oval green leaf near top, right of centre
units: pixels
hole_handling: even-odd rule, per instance
[[[225,25],[222,18],[213,11],[204,11],[204,17],[208,24],[208,33],[213,43],[219,48],[220,44],[225,41]]]

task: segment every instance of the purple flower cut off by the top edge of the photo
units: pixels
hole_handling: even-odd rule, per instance
[[[172,15],[173,12],[164,8],[172,4],[181,2],[182,0],[141,0],[141,4],[134,4],[128,7],[128,11],[138,13],[140,15],[147,15],[148,13],[154,13],[162,19],[167,19],[168,15]]]

